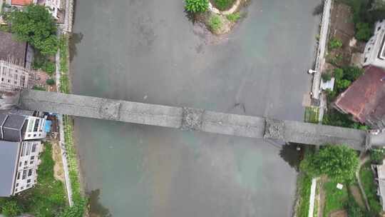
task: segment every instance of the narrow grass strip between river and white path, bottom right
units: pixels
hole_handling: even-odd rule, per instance
[[[310,188],[312,186],[312,178],[305,173],[299,173],[297,178],[297,191],[298,191],[298,206],[297,216],[307,217],[309,214],[309,198]]]

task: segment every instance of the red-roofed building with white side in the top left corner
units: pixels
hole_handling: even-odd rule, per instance
[[[59,11],[61,10],[61,0],[6,0],[6,3],[11,6],[27,6],[30,4],[39,4],[46,6],[54,19],[59,19]]]

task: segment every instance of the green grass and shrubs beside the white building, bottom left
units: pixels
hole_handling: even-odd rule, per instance
[[[34,216],[58,216],[66,207],[66,192],[63,183],[53,176],[54,161],[51,143],[44,143],[41,153],[36,186],[12,198],[1,198],[1,211],[9,216],[30,213]],[[15,204],[17,206],[15,206]],[[9,212],[9,213],[7,213]]]

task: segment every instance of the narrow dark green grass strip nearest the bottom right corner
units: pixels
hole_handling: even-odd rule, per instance
[[[382,211],[379,198],[376,195],[377,186],[374,183],[373,171],[371,171],[370,163],[365,163],[359,171],[359,178],[361,179],[362,187],[364,188],[366,197],[369,201],[371,211],[380,213]]]

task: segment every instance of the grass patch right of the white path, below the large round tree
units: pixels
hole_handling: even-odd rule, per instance
[[[337,187],[337,182],[327,181],[324,183],[325,191],[325,206],[324,206],[324,217],[327,217],[333,211],[344,209],[349,199],[347,192],[347,185],[344,185],[342,190]]]

